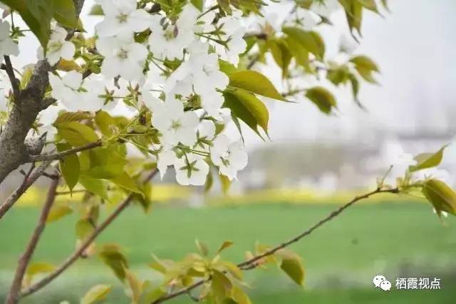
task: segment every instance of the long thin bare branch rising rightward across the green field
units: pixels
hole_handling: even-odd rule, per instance
[[[286,247],[290,246],[291,244],[296,243],[297,241],[300,241],[301,239],[303,239],[306,236],[309,236],[309,234],[311,234],[313,231],[315,231],[319,227],[323,226],[323,224],[326,224],[328,221],[331,221],[332,219],[336,218],[345,209],[347,209],[349,206],[352,206],[357,201],[361,201],[362,199],[367,199],[368,197],[370,197],[370,196],[372,196],[374,194],[380,194],[380,193],[397,194],[397,193],[399,193],[399,190],[396,189],[396,188],[395,189],[380,189],[380,188],[378,188],[378,189],[375,189],[372,192],[368,192],[368,193],[363,194],[361,196],[356,196],[354,199],[352,199],[351,201],[348,201],[348,203],[346,203],[345,205],[343,205],[343,206],[339,207],[338,209],[336,209],[335,211],[331,212],[331,214],[328,214],[328,216],[326,216],[324,219],[321,219],[314,226],[311,226],[311,228],[307,229],[306,231],[303,231],[298,236],[295,236],[294,238],[290,239],[289,241],[281,243],[280,245],[275,246],[274,248],[271,248],[268,251],[265,251],[264,253],[261,253],[258,256],[254,256],[253,258],[250,258],[247,261],[244,261],[242,263],[237,264],[237,267],[239,269],[243,270],[243,271],[247,271],[247,270],[250,270],[250,269],[257,268],[259,265],[261,265],[261,263],[259,263],[261,260],[263,260],[264,258],[266,258],[268,256],[272,256],[277,251],[279,251],[279,250],[281,250],[283,248],[286,248]],[[190,291],[194,290],[195,288],[198,288],[202,284],[204,284],[206,282],[209,282],[211,280],[212,280],[212,278],[207,278],[206,280],[197,281],[196,283],[193,283],[192,285],[189,285],[186,288],[182,288],[180,290],[177,290],[174,293],[169,293],[167,295],[163,295],[161,298],[155,300],[151,304],[163,303],[163,302],[165,302],[167,300],[171,300],[171,299],[176,298],[176,297],[178,297],[180,295],[188,294],[188,293],[190,293]]]

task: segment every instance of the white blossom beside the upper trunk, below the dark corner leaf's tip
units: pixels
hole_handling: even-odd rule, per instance
[[[65,28],[56,26],[51,32],[51,37],[46,47],[46,59],[51,65],[55,65],[61,58],[66,61],[73,59],[76,48],[73,43],[66,41],[68,35]],[[38,58],[43,58],[43,48],[38,48]]]

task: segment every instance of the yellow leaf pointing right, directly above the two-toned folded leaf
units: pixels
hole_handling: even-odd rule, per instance
[[[271,83],[271,80],[259,72],[254,70],[241,70],[239,72],[231,73],[228,76],[229,85],[232,88],[241,88],[251,93],[286,101]]]

